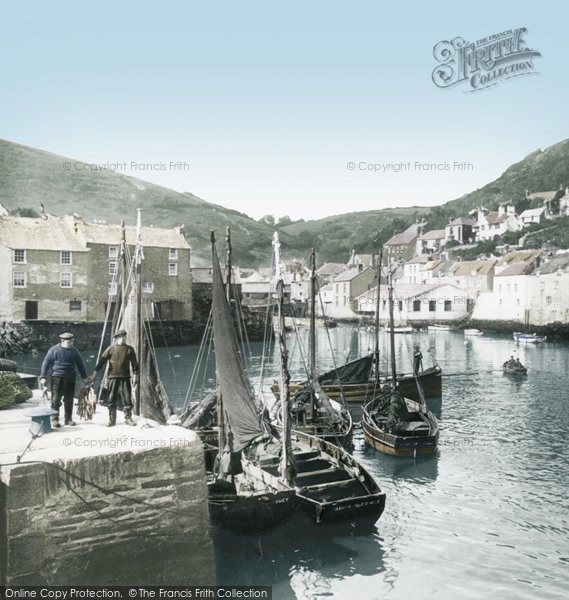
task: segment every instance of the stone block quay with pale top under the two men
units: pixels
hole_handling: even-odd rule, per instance
[[[194,432],[129,427],[120,411],[106,427],[97,407],[24,452],[34,407],[48,404],[36,394],[0,411],[0,585],[215,584]]]

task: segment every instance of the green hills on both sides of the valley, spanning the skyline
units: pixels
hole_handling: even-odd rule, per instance
[[[209,264],[209,231],[218,240],[226,226],[232,229],[234,262],[242,266],[270,263],[274,227],[243,213],[211,204],[190,193],[180,193],[134,177],[109,171],[89,172],[64,163],[76,160],[0,140],[0,202],[9,210],[39,211],[40,203],[52,214],[78,213],[85,220],[124,219],[134,224],[136,208],[145,224],[175,227],[184,224],[195,265]],[[510,166],[495,181],[436,207],[389,208],[298,221],[279,227],[285,257],[308,258],[315,247],[317,262],[344,262],[352,248],[375,252],[394,231],[406,229],[424,217],[431,228],[442,228],[452,217],[466,215],[481,204],[495,209],[513,200],[518,212],[527,208],[525,191],[553,190],[569,183],[569,140],[536,150]],[[393,204],[397,198],[393,198]],[[548,234],[549,235],[549,234]],[[552,231],[548,239],[555,240]]]

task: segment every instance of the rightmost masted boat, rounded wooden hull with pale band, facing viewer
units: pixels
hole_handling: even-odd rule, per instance
[[[391,381],[397,381],[395,368],[395,335],[393,331],[393,287],[389,272],[389,317],[391,323]],[[366,442],[386,454],[418,456],[436,450],[439,425],[427,409],[419,383],[421,400],[416,402],[403,395],[398,386],[387,387],[363,409],[362,427]]]

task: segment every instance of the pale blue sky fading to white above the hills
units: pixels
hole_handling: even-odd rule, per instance
[[[293,220],[442,204],[569,137],[567,5],[392,4],[10,3],[0,137]],[[519,28],[528,75],[433,83],[439,42]]]

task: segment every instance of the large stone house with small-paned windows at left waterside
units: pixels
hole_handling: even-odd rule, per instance
[[[130,254],[136,228],[125,228]],[[80,217],[2,217],[0,319],[102,322],[117,291],[121,226]],[[142,228],[143,302],[151,318],[192,318],[190,246],[181,228]],[[109,302],[111,306],[109,307]]]

